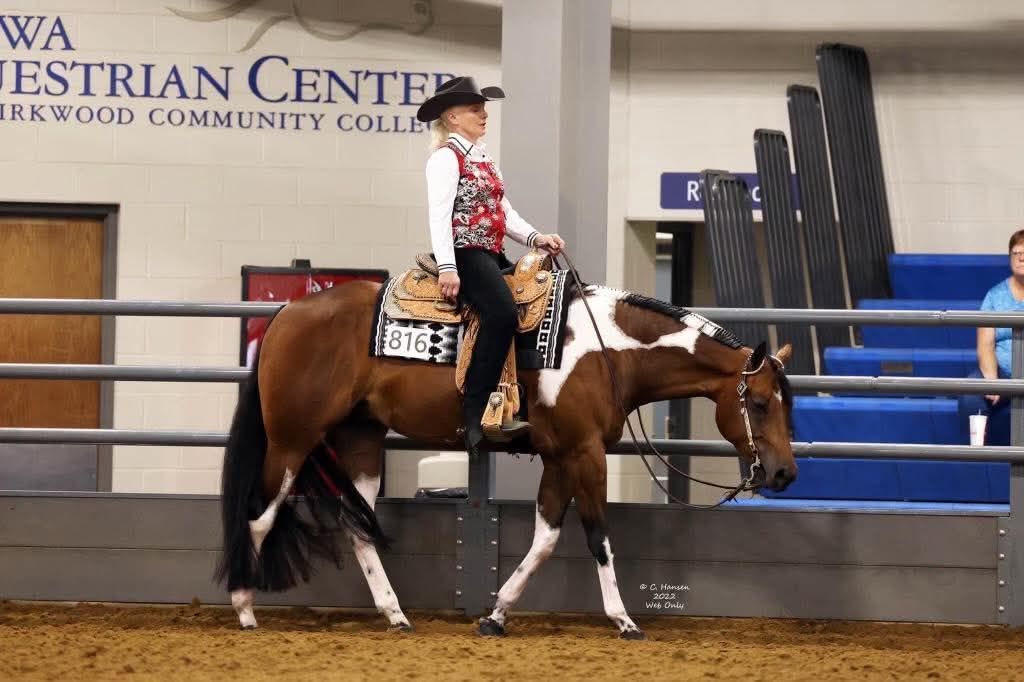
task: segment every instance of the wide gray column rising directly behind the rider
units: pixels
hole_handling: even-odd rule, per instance
[[[509,200],[558,231],[585,280],[606,278],[611,0],[502,6],[502,173]]]

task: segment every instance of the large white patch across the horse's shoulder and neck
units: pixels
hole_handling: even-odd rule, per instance
[[[674,347],[684,348],[691,354],[694,352],[697,339],[700,337],[700,330],[691,325],[691,323],[696,324],[695,316],[687,315],[681,319],[680,322],[685,327],[678,332],[666,334],[652,343],[640,343],[615,325],[615,303],[627,296],[628,292],[604,287],[588,287],[588,291],[594,292],[587,297],[587,302],[590,303],[594,319],[597,321],[597,325],[601,329],[604,345],[609,350]],[[702,317],[699,321],[700,324],[710,324]],[[587,314],[587,308],[582,299],[577,299],[569,305],[566,324],[572,330],[573,336],[572,340],[562,349],[562,365],[557,370],[542,370],[538,381],[540,401],[548,407],[555,406],[558,393],[562,390],[569,375],[572,374],[580,358],[589,352],[601,349],[600,341],[594,332],[594,325],[590,322],[590,315]]]

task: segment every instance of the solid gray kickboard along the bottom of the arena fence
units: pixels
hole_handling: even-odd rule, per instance
[[[216,498],[8,495],[0,505],[2,598],[226,601],[223,590],[211,582],[218,556]],[[378,508],[385,529],[397,540],[396,550],[382,559],[402,604],[459,607],[458,507],[382,500]],[[485,508],[477,511],[486,513]],[[498,547],[504,558],[497,574],[507,577],[532,538],[532,506],[504,504],[501,519]],[[996,617],[999,520],[689,513],[618,505],[609,512],[618,584],[638,613],[667,612],[645,608],[644,601],[655,600],[650,590],[640,589],[641,584],[664,582],[690,587],[682,599],[688,604],[683,612],[690,614],[966,623]],[[574,511],[564,536],[550,565],[531,581],[522,608],[601,609],[595,564]],[[686,560],[675,560],[679,558]],[[898,562],[907,565],[888,565]],[[369,607],[372,600],[355,566],[354,558],[346,556],[346,570],[324,566],[309,585],[261,595],[257,603]],[[573,586],[570,593],[566,585]]]

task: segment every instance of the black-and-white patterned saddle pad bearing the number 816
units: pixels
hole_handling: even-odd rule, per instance
[[[552,272],[552,293],[544,318],[532,332],[516,335],[516,356],[520,370],[557,370],[562,361],[562,341],[568,313],[566,270]],[[462,345],[462,325],[418,319],[392,319],[383,302],[396,285],[392,278],[381,287],[370,331],[371,357],[455,365]]]

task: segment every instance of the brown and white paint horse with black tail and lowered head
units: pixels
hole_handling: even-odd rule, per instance
[[[451,449],[460,442],[455,369],[371,357],[368,342],[379,285],[354,282],[285,306],[267,329],[257,367],[243,390],[225,451],[225,580],[241,625],[255,628],[254,591],[283,590],[307,580],[311,555],[338,558],[331,530],[349,537],[390,628],[411,630],[378,556],[386,539],[374,514],[385,434]],[[718,326],[659,301],[588,287],[590,304],[625,408],[705,396],[717,403],[722,435],[741,456],[760,454],[760,480],[784,488],[796,476],[790,440],[792,408],[783,347],[767,356]],[[744,372],[745,371],[745,372]],[[605,523],[605,449],[623,434],[584,297],[569,304],[561,369],[521,373],[528,396],[531,449],[544,462],[534,544],[498,593],[485,635],[505,619],[526,582],[558,540],[571,501],[597,561],[604,610],[621,636],[643,633],[626,612],[615,582]],[[737,387],[745,382],[749,427]],[[331,455],[330,450],[337,453]],[[289,495],[303,495],[312,520],[300,518]]]

